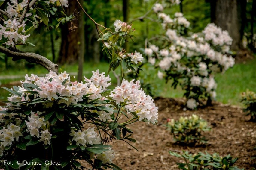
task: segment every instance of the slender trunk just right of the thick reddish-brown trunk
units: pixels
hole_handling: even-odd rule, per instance
[[[80,3],[83,4],[83,0],[80,0]],[[80,9],[80,16],[79,16],[79,25],[78,31],[80,33],[79,36],[79,54],[78,54],[78,81],[81,82],[83,78],[83,64],[84,64],[84,12],[81,8]]]

